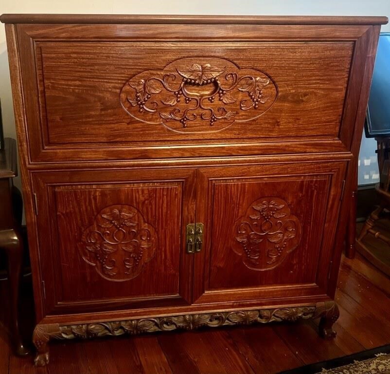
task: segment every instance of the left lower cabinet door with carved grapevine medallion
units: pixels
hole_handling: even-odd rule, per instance
[[[193,169],[35,172],[45,314],[190,303],[194,178]]]

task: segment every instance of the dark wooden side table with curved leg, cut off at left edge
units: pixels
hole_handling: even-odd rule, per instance
[[[0,248],[8,256],[8,279],[10,284],[11,335],[17,355],[27,355],[18,329],[18,295],[20,270],[23,259],[23,242],[20,234],[22,204],[20,192],[13,185],[18,174],[15,139],[6,138],[0,150]],[[18,204],[13,204],[17,200]],[[17,206],[17,207],[15,207]]]

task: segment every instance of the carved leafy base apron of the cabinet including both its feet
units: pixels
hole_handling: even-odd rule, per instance
[[[49,347],[47,343],[50,339],[116,337],[125,334],[136,335],[178,329],[194,330],[205,326],[248,325],[252,323],[296,321],[308,318],[320,318],[319,333],[323,337],[329,338],[336,335],[332,330],[332,325],[338,318],[338,308],[332,300],[322,301],[317,303],[317,305],[285,308],[184,314],[61,326],[59,324],[38,324],[33,334],[33,342],[37,349],[35,365],[44,366],[49,363]]]

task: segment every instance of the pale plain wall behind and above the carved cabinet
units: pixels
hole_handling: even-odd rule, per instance
[[[390,0],[1,0],[1,13],[387,16]],[[390,31],[390,25],[382,26]],[[4,136],[15,137],[4,25],[0,25],[0,98]],[[16,185],[20,186],[17,179]]]

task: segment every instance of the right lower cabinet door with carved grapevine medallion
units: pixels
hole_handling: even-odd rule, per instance
[[[346,162],[203,168],[197,303],[325,295]]]

